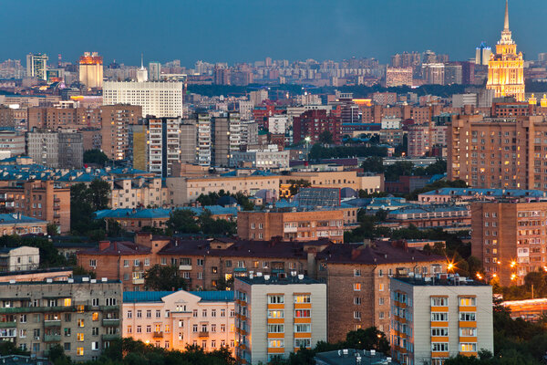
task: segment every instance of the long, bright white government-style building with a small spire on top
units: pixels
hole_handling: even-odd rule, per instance
[[[143,116],[182,116],[182,82],[105,81],[103,105],[130,104],[142,107]]]

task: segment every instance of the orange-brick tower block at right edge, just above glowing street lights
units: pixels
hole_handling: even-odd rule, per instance
[[[480,259],[486,276],[509,287],[522,285],[528,273],[543,270],[547,203],[472,203],[471,216],[471,255]]]

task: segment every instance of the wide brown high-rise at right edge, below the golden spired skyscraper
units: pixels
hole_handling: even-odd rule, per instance
[[[474,188],[547,189],[546,133],[541,116],[454,116],[447,141],[449,179]]]

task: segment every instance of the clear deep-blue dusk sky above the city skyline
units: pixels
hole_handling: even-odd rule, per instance
[[[434,50],[474,57],[500,38],[503,0],[0,0],[0,60],[43,52],[74,61],[98,51],[105,62],[181,59],[229,63],[341,60]],[[510,1],[513,39],[525,59],[547,52],[545,0]]]

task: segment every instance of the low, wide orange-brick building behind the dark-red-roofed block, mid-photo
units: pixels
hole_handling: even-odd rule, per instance
[[[242,239],[259,241],[268,241],[273,237],[294,241],[325,238],[342,243],[344,218],[342,209],[243,211],[237,217],[237,235]]]

